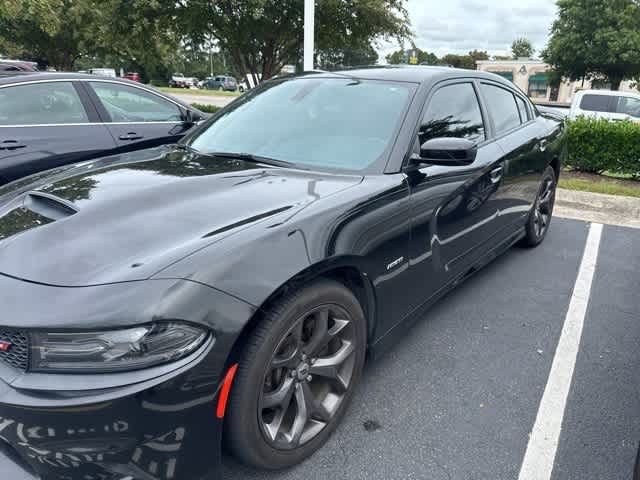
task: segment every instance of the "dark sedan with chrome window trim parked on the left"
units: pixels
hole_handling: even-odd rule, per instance
[[[60,165],[177,142],[207,116],[129,80],[0,75],[0,185]]]

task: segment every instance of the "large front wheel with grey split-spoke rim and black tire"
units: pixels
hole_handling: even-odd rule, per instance
[[[362,308],[340,283],[322,280],[285,296],[240,361],[225,420],[231,452],[272,470],[313,454],[343,417],[365,350]]]

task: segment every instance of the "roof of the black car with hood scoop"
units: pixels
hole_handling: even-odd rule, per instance
[[[426,65],[386,65],[373,67],[356,67],[335,72],[314,71],[308,74],[326,74],[350,76],[362,80],[387,80],[394,82],[435,83],[454,78],[479,78],[501,83],[510,88],[514,84],[500,75],[480,70],[466,70],[446,66]]]

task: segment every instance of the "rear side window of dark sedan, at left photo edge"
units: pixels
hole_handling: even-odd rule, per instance
[[[87,113],[71,82],[0,88],[0,125],[87,123]]]

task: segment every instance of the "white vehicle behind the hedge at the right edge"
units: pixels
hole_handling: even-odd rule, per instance
[[[579,116],[640,122],[640,95],[611,90],[582,90],[575,94],[569,118]]]

